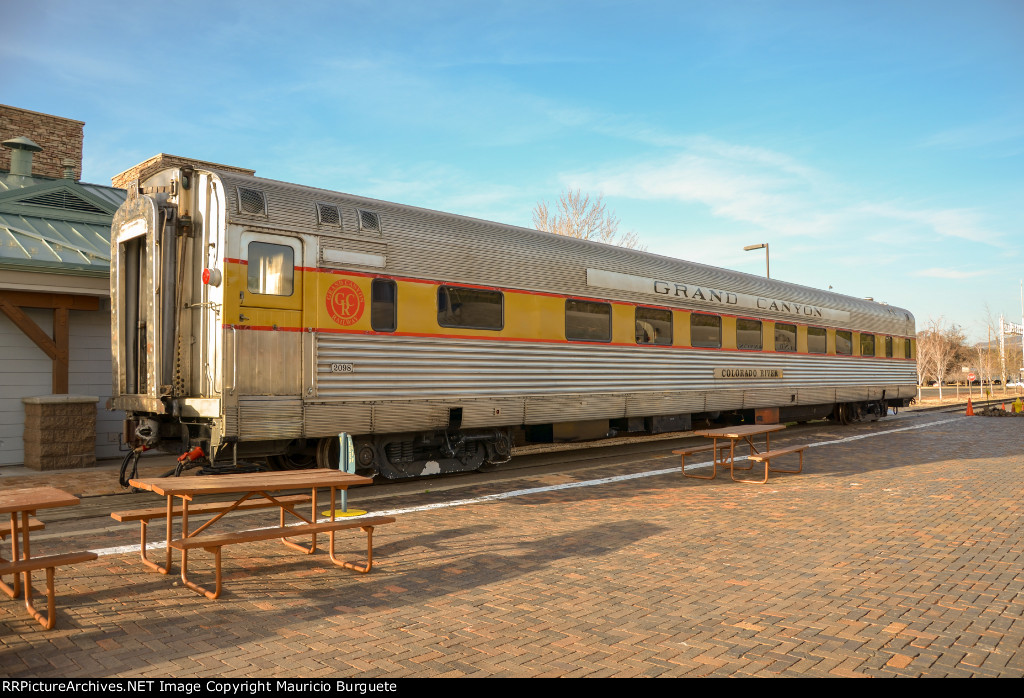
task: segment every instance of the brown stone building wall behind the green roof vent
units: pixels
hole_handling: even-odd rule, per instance
[[[43,148],[33,156],[33,175],[63,177],[60,161],[67,158],[75,161],[75,179],[81,179],[84,129],[84,121],[0,104],[0,141],[25,136]],[[5,147],[0,147],[0,170],[10,170],[10,150]]]

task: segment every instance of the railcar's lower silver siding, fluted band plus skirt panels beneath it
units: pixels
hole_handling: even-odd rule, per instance
[[[906,362],[801,354],[355,335],[321,335],[316,347],[317,399],[358,404],[332,406],[335,426],[307,422],[307,435],[342,423],[353,433],[442,428],[450,407],[475,428],[860,401],[897,397],[915,378]],[[332,374],[336,362],[353,373]],[[716,367],[779,367],[784,378],[716,380]]]

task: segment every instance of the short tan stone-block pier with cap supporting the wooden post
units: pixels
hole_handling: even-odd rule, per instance
[[[89,395],[25,397],[25,465],[66,470],[96,465],[96,403]]]

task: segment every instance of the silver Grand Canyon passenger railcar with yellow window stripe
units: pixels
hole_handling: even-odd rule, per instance
[[[238,172],[133,183],[112,234],[126,438],[209,461],[486,468],[516,439],[877,419],[906,310]]]

